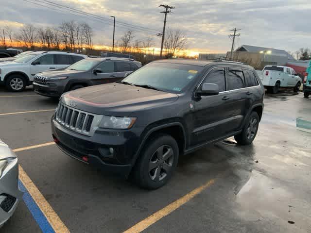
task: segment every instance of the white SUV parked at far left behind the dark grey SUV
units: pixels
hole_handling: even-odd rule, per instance
[[[60,51],[36,51],[13,62],[0,62],[0,84],[7,90],[20,92],[33,83],[35,74],[68,67],[86,55]]]

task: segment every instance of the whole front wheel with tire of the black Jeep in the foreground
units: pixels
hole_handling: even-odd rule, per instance
[[[133,178],[140,187],[155,190],[171,179],[178,163],[179,149],[176,140],[168,134],[158,134],[148,141],[133,168]],[[169,156],[167,160],[163,154]]]

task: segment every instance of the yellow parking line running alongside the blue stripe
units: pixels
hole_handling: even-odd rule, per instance
[[[19,165],[19,180],[24,184],[29,194],[35,200],[44,216],[48,219],[55,233],[69,233],[69,229],[55,213],[49,202],[43,197],[39,189],[35,186],[33,181],[26,174],[24,169]]]

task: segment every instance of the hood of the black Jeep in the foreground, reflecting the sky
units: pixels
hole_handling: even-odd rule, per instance
[[[121,83],[90,86],[62,96],[62,101],[74,108],[113,116],[130,116],[134,111],[162,106],[177,99],[176,94]]]

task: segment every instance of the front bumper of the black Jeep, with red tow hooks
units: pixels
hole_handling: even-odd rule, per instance
[[[92,136],[87,136],[64,128],[52,116],[52,136],[62,151],[81,162],[124,177],[128,177],[134,164],[142,131],[142,128],[97,129]]]

